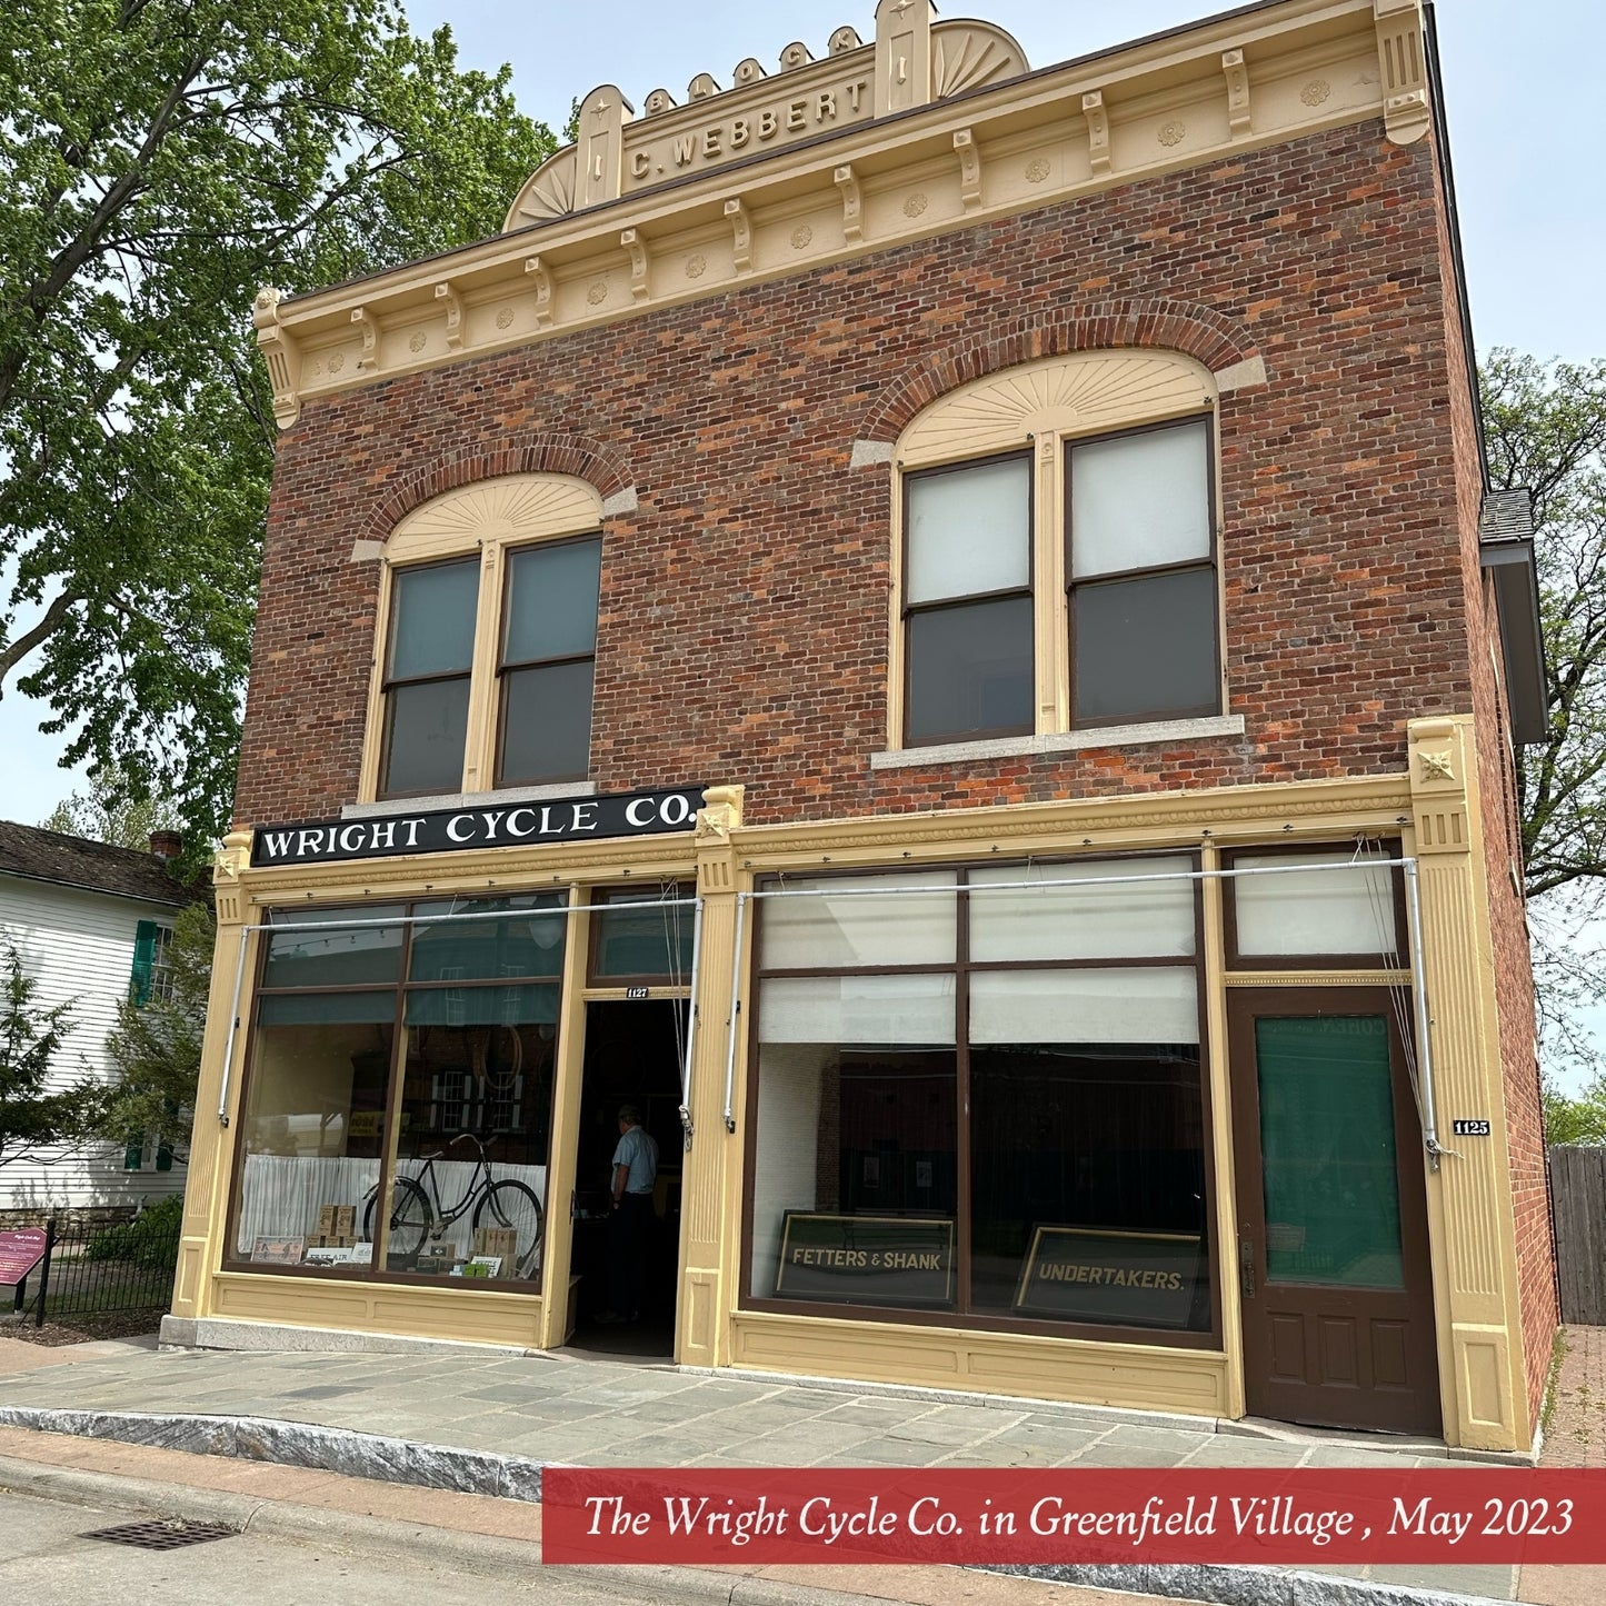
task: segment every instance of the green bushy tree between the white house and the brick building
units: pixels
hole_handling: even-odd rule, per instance
[[[146,1135],[186,1158],[215,938],[206,904],[181,909],[167,949],[167,986],[143,1004],[117,1005],[117,1025],[106,1037],[111,1086],[96,1116],[101,1137],[120,1143],[130,1134]]]

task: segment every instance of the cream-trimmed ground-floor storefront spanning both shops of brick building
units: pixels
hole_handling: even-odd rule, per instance
[[[1514,1286],[1495,1150],[1436,1152],[1498,1065],[1421,1025],[1478,946],[1447,785],[239,834],[172,1333],[585,1346],[634,1102],[683,1363],[1518,1447],[1519,1338],[1455,1319],[1458,1259]]]

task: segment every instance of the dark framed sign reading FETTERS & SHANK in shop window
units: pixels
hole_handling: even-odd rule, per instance
[[[776,1296],[845,1304],[952,1304],[954,1222],[789,1209],[781,1229]]]

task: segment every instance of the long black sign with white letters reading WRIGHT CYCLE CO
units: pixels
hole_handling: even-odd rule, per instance
[[[464,853],[519,848],[538,842],[593,842],[601,837],[657,837],[692,830],[703,789],[622,792],[593,798],[544,798],[480,808],[427,809],[382,819],[318,819],[259,825],[251,843],[254,869],[278,864],[331,864],[403,853]]]

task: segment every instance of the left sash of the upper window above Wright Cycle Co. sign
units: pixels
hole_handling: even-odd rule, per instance
[[[458,792],[469,731],[480,560],[395,575],[379,795]]]

